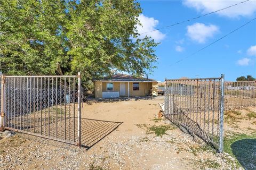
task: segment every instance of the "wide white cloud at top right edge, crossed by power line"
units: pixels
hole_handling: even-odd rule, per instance
[[[241,2],[241,0],[233,1],[223,1],[223,0],[212,0],[212,1],[194,1],[194,0],[185,0],[184,5],[195,8],[198,12],[203,14],[220,10],[236,3]],[[219,11],[216,14],[221,16],[227,16],[229,18],[236,18],[238,16],[251,16],[256,12],[256,1],[248,1],[236,6],[227,8],[225,10]]]

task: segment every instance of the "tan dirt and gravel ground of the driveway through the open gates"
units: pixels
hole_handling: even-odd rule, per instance
[[[0,168],[243,169],[228,153],[219,154],[204,142],[194,141],[169,121],[158,120],[158,103],[163,99],[161,96],[84,103],[82,118],[108,121],[95,128],[97,135],[92,135],[89,148],[22,133],[2,132]],[[239,112],[241,114],[230,111],[225,115],[225,135],[256,131],[256,117],[247,116],[256,112],[256,108],[249,107]],[[111,126],[113,122],[115,126]],[[94,129],[93,125],[90,126],[85,129]]]

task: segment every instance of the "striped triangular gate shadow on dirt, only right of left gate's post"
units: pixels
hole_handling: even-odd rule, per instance
[[[81,145],[90,149],[93,145],[113,132],[123,122],[111,122],[81,118]]]

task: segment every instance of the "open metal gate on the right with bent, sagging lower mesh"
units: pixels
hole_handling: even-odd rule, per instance
[[[165,117],[222,152],[224,75],[165,83]]]

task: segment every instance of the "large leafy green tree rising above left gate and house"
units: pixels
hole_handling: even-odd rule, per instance
[[[139,38],[141,12],[130,0],[1,0],[0,70],[16,75],[79,71],[84,80],[115,71],[151,73],[157,43]]]

